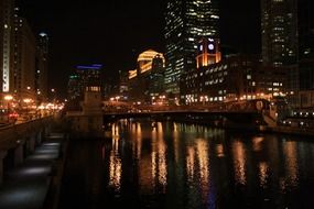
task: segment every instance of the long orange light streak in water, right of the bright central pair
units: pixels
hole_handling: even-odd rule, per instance
[[[240,141],[232,143],[235,178],[237,184],[246,185],[246,148],[245,144]]]

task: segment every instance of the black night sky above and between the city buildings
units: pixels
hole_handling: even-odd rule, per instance
[[[259,0],[219,0],[221,44],[260,52]],[[164,52],[164,0],[18,0],[34,32],[51,38],[50,87],[65,96],[76,65],[104,64],[107,76],[136,67],[144,50]]]

